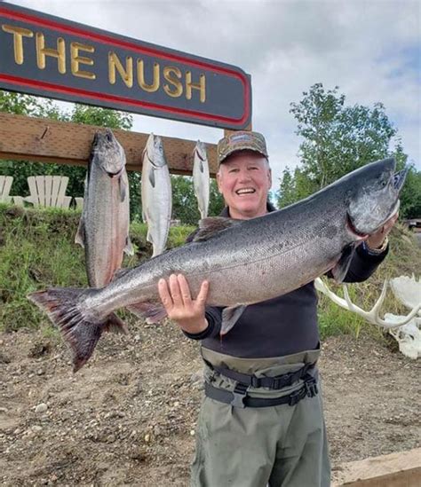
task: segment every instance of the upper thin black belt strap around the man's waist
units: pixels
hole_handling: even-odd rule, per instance
[[[207,360],[204,360],[204,362],[211,368],[211,370],[214,370],[221,375],[228,377],[228,379],[241,382],[247,387],[251,386],[253,388],[268,389],[283,389],[285,387],[292,386],[294,382],[299,381],[299,379],[303,379],[306,373],[315,365],[315,362],[313,364],[306,364],[298,369],[298,371],[296,372],[282,373],[282,375],[277,375],[276,377],[256,377],[256,375],[235,372],[231,369],[211,365]]]

